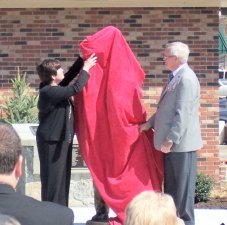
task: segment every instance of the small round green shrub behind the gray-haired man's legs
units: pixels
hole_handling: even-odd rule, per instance
[[[196,176],[195,203],[207,202],[214,187],[214,180],[208,175],[199,173]]]

